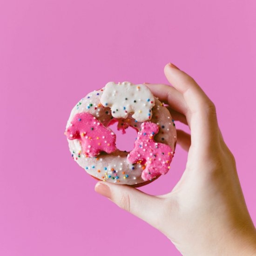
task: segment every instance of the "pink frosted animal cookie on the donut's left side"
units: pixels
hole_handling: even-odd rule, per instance
[[[116,150],[115,134],[86,112],[74,116],[66,135],[68,140],[80,140],[82,153],[89,157],[95,157],[101,151],[109,154]]]

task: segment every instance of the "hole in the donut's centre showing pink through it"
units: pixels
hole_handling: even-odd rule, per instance
[[[125,129],[125,133],[122,130],[117,129],[117,122],[110,124],[109,128],[116,135],[116,147],[121,151],[131,151],[134,149],[134,142],[138,135],[138,132],[135,128],[128,127]]]

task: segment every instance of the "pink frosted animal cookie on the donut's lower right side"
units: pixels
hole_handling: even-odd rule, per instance
[[[144,167],[141,174],[144,181],[166,174],[172,161],[173,150],[168,145],[153,140],[158,130],[158,125],[153,122],[142,123],[135,147],[127,156],[127,160],[131,163],[145,164],[146,168]]]

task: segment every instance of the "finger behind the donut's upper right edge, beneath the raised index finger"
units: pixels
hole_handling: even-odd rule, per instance
[[[165,84],[148,84],[150,91],[159,101],[168,104],[172,109],[185,115],[187,112],[186,102],[180,92],[175,88]]]

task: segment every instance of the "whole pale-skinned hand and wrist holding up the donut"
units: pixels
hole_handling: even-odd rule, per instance
[[[108,182],[98,182],[95,191],[159,229],[184,256],[256,256],[256,229],[213,102],[175,65],[164,73],[172,86],[147,86],[189,126],[191,135],[177,130],[177,142],[188,151],[180,181],[159,196]]]

